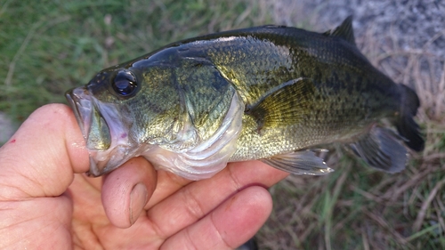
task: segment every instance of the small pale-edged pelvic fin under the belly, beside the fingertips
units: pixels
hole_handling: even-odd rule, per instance
[[[311,150],[295,151],[260,160],[288,173],[321,175],[334,171]]]

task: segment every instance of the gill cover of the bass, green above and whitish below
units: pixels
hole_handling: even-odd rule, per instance
[[[205,179],[223,170],[236,151],[244,103],[231,83],[203,58],[185,57],[174,71],[185,115],[184,132],[193,131],[193,143],[161,143],[146,157],[158,169],[190,180]],[[181,137],[181,134],[178,135]],[[184,140],[190,139],[184,136]],[[190,145],[184,149],[179,145]]]

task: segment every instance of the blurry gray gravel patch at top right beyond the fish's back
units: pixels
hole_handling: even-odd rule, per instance
[[[356,37],[366,36],[372,30],[380,45],[394,42],[388,41],[388,36],[392,36],[403,51],[422,51],[445,58],[444,1],[279,0],[273,9],[277,24],[292,26],[305,21],[318,31],[336,27],[352,15]],[[443,60],[433,68],[441,72]]]

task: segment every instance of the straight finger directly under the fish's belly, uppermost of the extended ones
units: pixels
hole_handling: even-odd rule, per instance
[[[158,235],[168,238],[197,222],[234,192],[254,184],[270,187],[287,175],[259,161],[231,163],[214,177],[191,182],[152,206],[147,217]]]

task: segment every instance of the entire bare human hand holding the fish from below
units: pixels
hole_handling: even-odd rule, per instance
[[[264,188],[287,176],[257,161],[203,181],[142,157],[100,178],[88,168],[71,110],[37,109],[0,149],[0,248],[234,248],[271,213]]]

